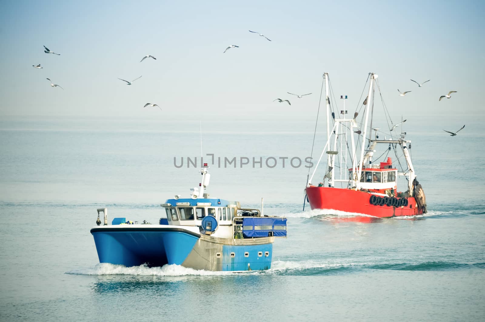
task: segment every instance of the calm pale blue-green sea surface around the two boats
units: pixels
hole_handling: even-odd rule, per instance
[[[429,120],[406,124],[429,211],[394,219],[303,211],[313,171],[305,158],[318,159],[325,143],[319,125],[311,153],[314,127],[183,116],[1,119],[0,321],[485,321],[480,122],[455,137]],[[212,197],[248,207],[263,198],[265,214],[287,216],[271,269],[99,264],[89,233],[96,209],[107,207],[110,222],[157,223],[160,204],[198,186],[201,154]],[[236,167],[224,165],[234,157]],[[253,167],[253,158],[262,163]]]

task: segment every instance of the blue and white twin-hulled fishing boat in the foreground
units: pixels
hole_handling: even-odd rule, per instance
[[[177,264],[207,271],[248,271],[271,268],[275,237],[286,237],[286,218],[264,216],[237,201],[210,198],[207,163],[202,182],[190,198],[176,195],[161,206],[166,218],[142,224],[98,211],[91,229],[100,263],[125,266]],[[104,213],[104,225],[99,214]]]

